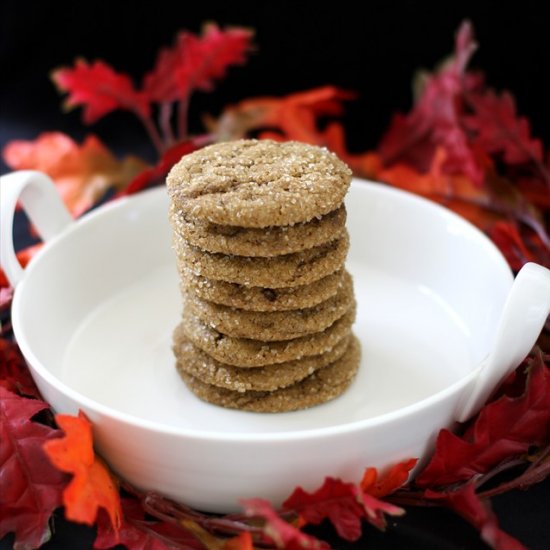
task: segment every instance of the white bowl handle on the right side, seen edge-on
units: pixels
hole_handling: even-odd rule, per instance
[[[458,421],[475,414],[498,383],[525,359],[549,313],[550,270],[527,263],[517,274],[504,304],[492,351],[481,363],[473,387],[468,386],[462,396]]]

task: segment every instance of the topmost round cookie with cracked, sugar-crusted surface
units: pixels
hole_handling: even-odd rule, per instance
[[[239,140],[184,156],[166,180],[177,207],[222,225],[307,222],[338,208],[350,169],[326,149],[288,141]]]

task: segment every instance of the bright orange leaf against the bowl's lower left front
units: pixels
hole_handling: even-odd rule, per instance
[[[63,491],[65,517],[94,525],[103,508],[117,530],[122,514],[117,482],[94,453],[92,425],[82,412],[78,417],[57,414],[55,420],[65,437],[46,442],[44,450],[56,468],[74,476]]]

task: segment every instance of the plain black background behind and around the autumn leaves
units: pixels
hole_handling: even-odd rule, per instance
[[[282,95],[333,84],[359,93],[345,117],[354,150],[374,147],[393,112],[411,105],[418,68],[432,68],[450,54],[460,22],[469,18],[480,48],[472,66],[496,89],[511,90],[535,135],[550,142],[550,19],[545,2],[50,2],[3,0],[0,13],[0,145],[62,130],[81,139],[97,133],[119,153],[154,159],[140,124],[114,113],[86,128],[80,112],[63,114],[48,78],[77,56],[104,59],[141,82],[160,46],[179,29],[194,32],[204,21],[255,29],[256,51],[212,94],[191,103],[192,130],[201,113],[218,114],[246,97]],[[5,170],[3,166],[3,170]],[[530,548],[550,547],[550,483],[495,499],[503,526]],[[330,536],[325,529],[324,535]],[[374,531],[335,548],[478,548],[477,534],[444,511],[411,510],[389,537]],[[50,548],[87,548],[90,533],[61,527]],[[392,538],[393,537],[393,538]],[[10,546],[10,539],[0,547]]]

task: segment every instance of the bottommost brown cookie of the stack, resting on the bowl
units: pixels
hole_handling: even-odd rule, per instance
[[[200,399],[230,409],[251,412],[289,412],[326,403],[341,395],[351,384],[360,360],[360,345],[352,336],[344,355],[315,371],[301,382],[271,392],[231,391],[182,372],[187,387]]]

